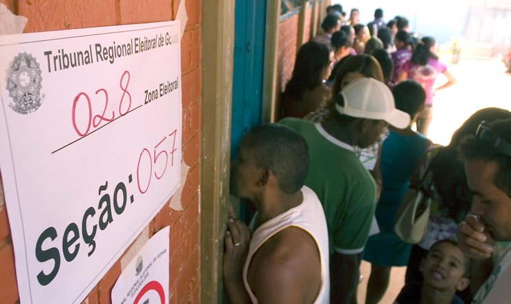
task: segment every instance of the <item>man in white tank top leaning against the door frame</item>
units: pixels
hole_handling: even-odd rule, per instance
[[[257,213],[253,234],[229,218],[224,286],[231,303],[329,303],[325,214],[304,187],[309,152],[287,126],[262,124],[243,137],[233,161],[235,195]]]

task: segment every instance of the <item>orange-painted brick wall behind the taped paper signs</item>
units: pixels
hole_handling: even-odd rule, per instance
[[[182,0],[185,1],[185,0]],[[25,32],[65,30],[175,19],[180,0],[104,1],[17,1],[0,0],[17,15],[28,17]],[[168,204],[146,227],[149,237],[170,225],[170,303],[200,302],[200,63],[201,0],[186,0],[188,23],[181,41],[182,151],[190,166],[183,186],[182,211]],[[6,206],[0,184],[0,303],[18,301],[14,251]],[[126,252],[129,248],[126,250]],[[126,252],[124,254],[126,254]],[[123,254],[123,256],[124,256]],[[88,304],[110,303],[111,289],[121,273],[120,259],[92,292]]]

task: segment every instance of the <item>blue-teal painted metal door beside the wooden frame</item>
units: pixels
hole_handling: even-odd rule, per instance
[[[243,135],[261,122],[267,0],[236,0],[231,158]]]

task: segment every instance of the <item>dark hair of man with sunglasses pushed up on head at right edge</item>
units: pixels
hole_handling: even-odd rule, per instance
[[[511,118],[495,120],[488,127],[508,143],[511,143]],[[496,162],[499,170],[495,173],[494,184],[511,198],[511,156],[499,153],[492,146],[482,142],[476,135],[467,135],[460,144],[463,160],[481,159]]]

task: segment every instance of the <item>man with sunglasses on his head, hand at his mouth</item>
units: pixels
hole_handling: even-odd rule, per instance
[[[511,247],[511,120],[482,122],[460,146],[474,192],[472,214],[459,225],[459,246],[472,263],[472,303],[509,303]],[[478,289],[479,288],[479,289]]]

